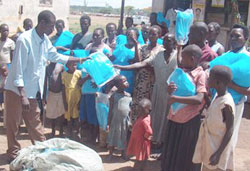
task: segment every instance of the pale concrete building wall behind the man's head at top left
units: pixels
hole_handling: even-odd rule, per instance
[[[14,33],[18,26],[22,28],[25,18],[31,18],[35,26],[38,14],[50,10],[57,19],[63,19],[68,28],[69,9],[70,0],[0,0],[0,23],[8,24]]]

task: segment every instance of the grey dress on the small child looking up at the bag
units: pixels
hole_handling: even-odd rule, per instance
[[[115,93],[112,110],[112,120],[108,134],[108,146],[124,150],[127,146],[127,132],[129,125],[130,102],[132,98],[128,95]]]

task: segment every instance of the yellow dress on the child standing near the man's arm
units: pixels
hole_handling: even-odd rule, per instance
[[[78,80],[81,79],[81,71],[76,70],[73,74],[62,73],[62,84],[65,86],[66,101],[68,111],[65,113],[65,119],[76,119],[79,117],[79,102],[81,98],[81,89],[78,86]]]

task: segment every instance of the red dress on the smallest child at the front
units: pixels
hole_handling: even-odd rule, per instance
[[[152,136],[151,116],[137,118],[129,140],[127,155],[135,155],[136,160],[147,160],[150,156],[151,143],[147,138]]]

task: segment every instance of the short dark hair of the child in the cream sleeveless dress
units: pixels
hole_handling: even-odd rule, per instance
[[[233,79],[232,70],[222,65],[214,66],[210,75],[213,75],[216,80],[223,82],[225,85],[228,85]]]

